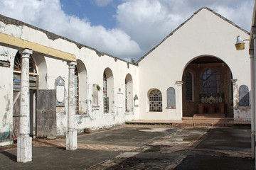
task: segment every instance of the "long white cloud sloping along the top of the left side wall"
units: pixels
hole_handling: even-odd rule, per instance
[[[123,30],[91,26],[87,18],[65,14],[57,0],[2,0],[0,6],[3,9],[0,13],[5,16],[63,35],[116,57],[142,53],[137,42],[131,40]]]

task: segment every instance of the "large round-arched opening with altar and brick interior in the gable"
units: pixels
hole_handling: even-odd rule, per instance
[[[217,57],[198,57],[183,72],[183,117],[233,118],[232,73]]]

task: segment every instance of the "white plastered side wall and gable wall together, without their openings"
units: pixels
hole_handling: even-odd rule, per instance
[[[58,35],[31,28],[26,24],[0,21],[0,32],[12,35],[23,40],[36,42],[40,45],[69,52],[77,56],[86,69],[86,78],[80,83],[80,93],[83,99],[80,102],[82,115],[76,115],[77,128],[82,132],[85,128],[92,130],[107,128],[123,124],[128,120],[181,120],[182,118],[182,91],[180,81],[187,64],[197,57],[204,55],[218,57],[223,60],[238,79],[236,85],[245,84],[250,89],[250,58],[245,50],[235,50],[235,38],[249,38],[247,33],[224,21],[219,16],[202,9],[193,18],[186,22],[173,35],[164,40],[156,49],[152,50],[142,61],[139,67],[116,59],[109,55],[97,52],[90,47],[78,45],[61,38]],[[0,67],[0,142],[3,142],[12,131],[12,101],[13,101],[13,67],[17,50],[0,47],[1,60],[11,61],[11,67]],[[33,54],[33,60],[38,70],[38,89],[55,89],[55,79],[59,76],[65,81],[65,106],[57,107],[57,133],[65,135],[68,124],[68,65],[66,62]],[[102,86],[103,72],[111,69],[113,74],[113,112],[103,113]],[[125,112],[125,77],[132,77],[132,96],[139,100],[133,101],[133,111]],[[85,76],[81,74],[80,76]],[[92,104],[93,84],[101,87],[98,91],[98,106]],[[174,87],[176,91],[176,108],[166,108],[166,90]],[[163,96],[163,112],[149,112],[148,94],[151,89],[159,89]],[[86,93],[85,93],[86,92]],[[234,90],[234,118],[250,119],[250,107],[240,108],[238,91]],[[111,103],[110,103],[111,104]],[[139,106],[134,106],[139,105]]]

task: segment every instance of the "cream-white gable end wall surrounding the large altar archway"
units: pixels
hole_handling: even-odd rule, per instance
[[[187,64],[196,57],[218,57],[228,64],[233,79],[238,79],[238,86],[245,84],[250,89],[248,42],[245,42],[245,50],[235,50],[238,35],[249,38],[244,31],[203,8],[152,50],[139,62],[139,119],[181,120],[182,101],[177,96],[176,81],[182,80]],[[176,109],[166,109],[166,89],[170,86],[176,90]],[[163,112],[149,112],[150,89],[161,91]],[[237,102],[235,98],[234,102]],[[240,108],[235,108],[234,117],[239,111]],[[250,115],[245,118],[250,118]]]

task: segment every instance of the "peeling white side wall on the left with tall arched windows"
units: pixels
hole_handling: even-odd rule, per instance
[[[98,53],[91,48],[76,45],[75,42],[70,42],[60,38],[58,35],[53,35],[50,38],[41,30],[36,28],[30,28],[29,26],[16,26],[15,24],[5,24],[0,22],[0,31],[14,37],[36,42],[41,45],[52,47],[57,50],[69,52],[76,55],[80,63],[84,64],[87,75],[87,86],[85,81],[80,83],[80,95],[84,98],[81,101],[80,106],[85,108],[85,114],[76,115],[77,128],[82,131],[85,128],[99,129],[110,127],[113,125],[123,124],[126,120],[134,120],[138,118],[138,111],[134,109],[133,112],[125,113],[125,94],[124,94],[124,80],[127,74],[132,75],[133,82],[133,94],[138,94],[138,67],[124,62],[122,60],[110,57],[108,55]],[[80,46],[80,47],[78,47]],[[33,50],[33,49],[32,49]],[[16,51],[9,54],[10,60],[14,60]],[[4,52],[4,50],[3,50]],[[2,56],[1,56],[2,58]],[[65,107],[57,107],[57,132],[58,135],[65,135],[68,123],[68,65],[67,62],[55,60],[42,55],[33,54],[33,59],[38,69],[38,89],[55,89],[55,79],[59,76],[65,80]],[[102,77],[106,68],[110,68],[113,74],[113,112],[103,113],[102,102]],[[1,91],[1,112],[0,117],[3,120],[0,123],[0,132],[9,132],[12,128],[12,84],[13,80],[13,65],[10,68],[0,67],[0,71],[4,74],[1,75],[1,79],[5,81],[0,82]],[[86,74],[86,73],[85,73]],[[85,86],[83,86],[85,84]],[[99,106],[92,109],[92,86],[98,84],[101,90],[98,91]],[[84,89],[82,89],[84,88]],[[87,103],[86,103],[87,102]],[[111,103],[110,103],[111,104]],[[8,108],[6,108],[8,106]],[[6,123],[5,123],[6,121]],[[2,123],[5,123],[3,125]]]

